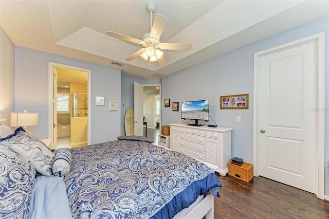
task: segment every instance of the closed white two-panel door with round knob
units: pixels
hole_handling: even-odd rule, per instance
[[[316,193],[316,42],[260,58],[259,175]]]

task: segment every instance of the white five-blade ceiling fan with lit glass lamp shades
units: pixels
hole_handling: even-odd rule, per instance
[[[185,43],[161,43],[160,35],[162,34],[163,29],[165,29],[168,19],[165,16],[156,14],[152,25],[152,12],[155,11],[156,6],[153,3],[149,3],[147,4],[147,9],[150,12],[151,32],[145,33],[142,36],[142,40],[132,38],[131,36],[126,36],[121,33],[116,33],[113,31],[106,32],[107,35],[112,36],[116,39],[136,43],[139,45],[143,45],[145,47],[131,54],[131,56],[127,57],[125,60],[131,61],[137,58],[138,56],[140,56],[144,60],[147,60],[149,62],[149,65],[150,62],[155,62],[155,61],[158,61],[160,65],[164,65],[167,62],[165,58],[163,58],[163,51],[161,51],[160,49],[188,51],[192,48],[191,44],[185,44]]]

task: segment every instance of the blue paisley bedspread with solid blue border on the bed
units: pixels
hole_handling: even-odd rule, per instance
[[[143,141],[117,140],[70,149],[65,176],[73,218],[172,218],[198,195],[219,197],[204,163]]]

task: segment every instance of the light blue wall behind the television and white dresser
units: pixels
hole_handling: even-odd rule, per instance
[[[163,77],[161,101],[163,103],[166,98],[170,98],[171,102],[209,99],[210,116],[217,125],[233,128],[232,157],[242,157],[246,162],[253,163],[253,54],[322,31],[326,32],[325,94],[328,94],[329,16],[326,16]],[[237,93],[249,94],[249,109],[220,109],[220,96]],[[329,95],[326,95],[325,133],[329,131],[328,109]],[[162,125],[181,121],[180,112],[173,112],[171,107],[163,107],[161,112]],[[236,116],[241,116],[241,122],[236,122]],[[329,160],[328,147],[329,139],[326,135],[325,160]],[[329,194],[329,168],[326,163],[323,165],[325,166],[325,194]]]

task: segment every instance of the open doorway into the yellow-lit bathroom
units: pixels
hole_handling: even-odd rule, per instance
[[[56,63],[49,63],[49,69],[53,78],[48,118],[53,148],[90,144],[90,70]]]

